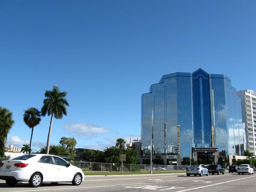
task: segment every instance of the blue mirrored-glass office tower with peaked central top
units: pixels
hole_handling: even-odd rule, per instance
[[[142,95],[143,155],[150,155],[151,138],[153,155],[179,150],[182,157],[189,157],[192,147],[215,147],[226,155],[241,155],[243,134],[241,101],[225,75],[202,69],[171,73]]]

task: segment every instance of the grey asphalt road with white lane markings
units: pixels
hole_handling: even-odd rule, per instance
[[[27,182],[8,186],[0,180],[1,192],[119,192],[119,191],[198,191],[198,192],[234,192],[256,191],[256,174],[238,175],[225,173],[225,175],[190,176],[185,173],[160,174],[160,175],[129,175],[129,176],[86,176],[79,186],[71,183],[52,185],[43,183],[40,187],[33,188]]]

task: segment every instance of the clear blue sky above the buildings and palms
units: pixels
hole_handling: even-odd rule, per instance
[[[0,106],[15,124],[7,146],[29,144],[25,109],[41,109],[57,84],[70,107],[54,119],[51,145],[104,150],[140,137],[141,95],[164,74],[225,74],[254,90],[256,1],[1,0]],[[34,128],[46,146],[50,117]]]

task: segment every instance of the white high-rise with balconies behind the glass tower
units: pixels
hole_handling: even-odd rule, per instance
[[[256,93],[253,90],[237,91],[241,98],[242,120],[245,124],[246,149],[256,155]]]

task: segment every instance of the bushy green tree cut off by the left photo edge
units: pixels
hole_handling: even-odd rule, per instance
[[[0,106],[0,157],[5,155],[7,135],[14,125],[13,114],[9,109]]]

